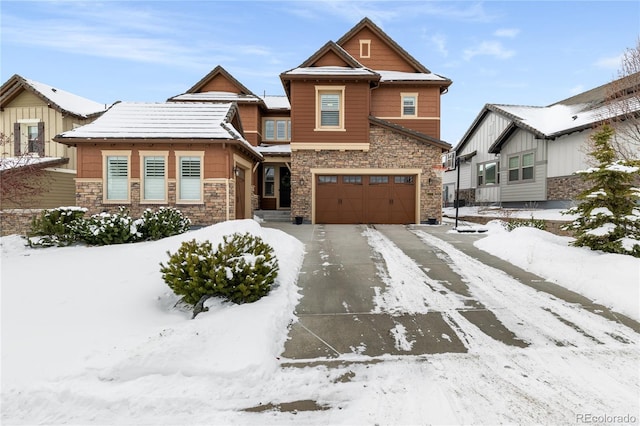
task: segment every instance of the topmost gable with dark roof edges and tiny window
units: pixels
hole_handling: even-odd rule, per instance
[[[431,71],[418,62],[398,43],[389,37],[380,27],[374,24],[369,18],[362,19],[358,24],[351,28],[343,35],[337,44],[342,46],[351,55],[358,57],[360,51],[359,40],[371,40],[371,49],[375,54],[371,58],[359,58],[359,60],[367,67],[375,70],[389,70],[402,72],[420,72],[430,74]],[[374,44],[375,43],[375,44]],[[393,57],[394,61],[385,61],[381,63],[379,58],[382,56]],[[387,66],[387,64],[394,64]]]

